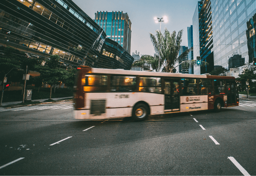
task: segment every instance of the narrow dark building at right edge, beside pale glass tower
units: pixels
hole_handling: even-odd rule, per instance
[[[248,20],[246,38],[247,38],[247,47],[248,47],[248,56],[249,62],[252,62],[252,58],[256,58],[256,14]]]

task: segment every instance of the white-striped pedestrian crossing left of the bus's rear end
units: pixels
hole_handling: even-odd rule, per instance
[[[4,109],[4,110],[0,110],[0,112],[4,112],[4,111],[30,111],[30,110],[70,109],[70,108],[73,108],[73,107],[74,107],[74,105],[70,105],[70,104],[25,106],[25,107],[20,107],[20,108]]]

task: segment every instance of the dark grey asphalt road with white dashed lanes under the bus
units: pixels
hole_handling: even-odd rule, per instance
[[[142,122],[71,103],[0,111],[0,175],[256,175],[256,102]]]

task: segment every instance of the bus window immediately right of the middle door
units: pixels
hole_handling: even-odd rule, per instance
[[[196,79],[181,79],[181,95],[197,95]]]

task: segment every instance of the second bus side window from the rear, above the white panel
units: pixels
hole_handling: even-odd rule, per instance
[[[136,76],[112,76],[111,91],[127,92],[135,91]]]

